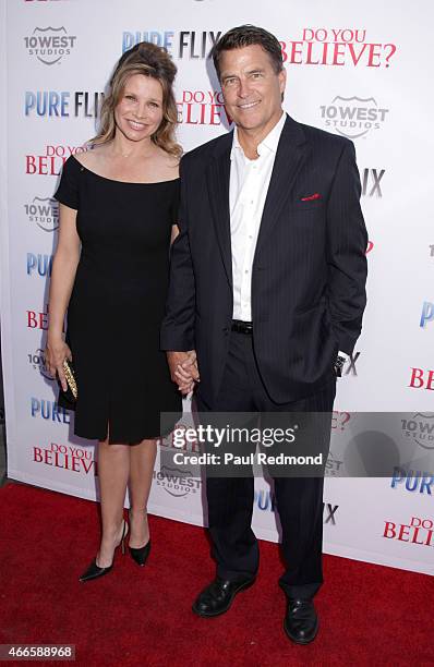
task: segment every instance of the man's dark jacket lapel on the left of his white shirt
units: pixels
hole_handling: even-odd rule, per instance
[[[217,149],[206,172],[213,221],[221,259],[231,287],[232,256],[230,244],[229,177],[232,135],[233,133],[230,132],[217,143]]]

